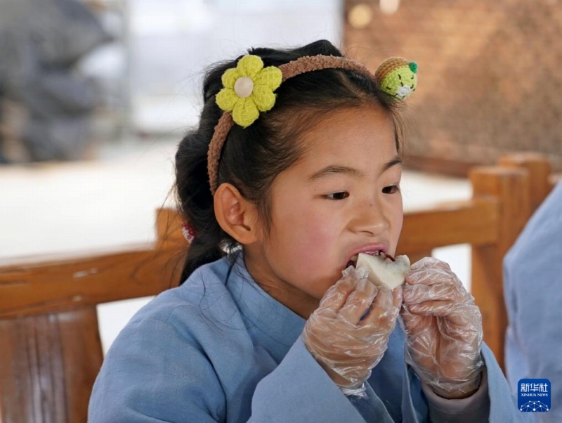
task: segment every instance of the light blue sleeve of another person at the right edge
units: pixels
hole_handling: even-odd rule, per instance
[[[539,422],[562,422],[562,183],[528,221],[504,259],[509,325],[506,367],[519,379],[549,379],[551,410]]]

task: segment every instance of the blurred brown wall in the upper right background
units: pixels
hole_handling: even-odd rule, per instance
[[[410,168],[466,175],[533,150],[562,171],[562,3],[346,0],[344,44],[372,69],[419,64]]]

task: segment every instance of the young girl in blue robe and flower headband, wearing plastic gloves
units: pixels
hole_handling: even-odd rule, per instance
[[[119,334],[89,422],[521,418],[446,263],[414,263],[392,292],[350,266],[395,254],[398,109],[415,85],[413,64],[375,78],[328,41],[208,72],[176,155],[185,282]]]

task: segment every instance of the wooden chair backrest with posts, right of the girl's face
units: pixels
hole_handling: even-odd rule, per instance
[[[497,166],[475,167],[469,178],[471,200],[405,215],[398,252],[415,261],[436,247],[471,245],[471,293],[483,315],[484,340],[504,368],[507,313],[502,259],[557,178],[551,175],[547,158],[534,153],[502,157]]]

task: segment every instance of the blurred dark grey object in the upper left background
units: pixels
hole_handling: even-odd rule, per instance
[[[99,99],[74,65],[111,40],[77,0],[0,0],[0,162],[6,138],[30,162],[84,158]]]

